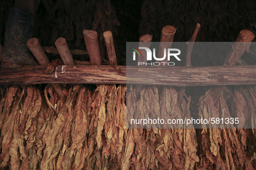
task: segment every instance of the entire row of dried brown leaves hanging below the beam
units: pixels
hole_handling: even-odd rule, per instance
[[[172,87],[74,85],[59,98],[51,85],[0,86],[0,167],[10,169],[253,169],[256,166],[256,87],[233,90],[229,109],[213,89],[201,97],[199,115],[233,115],[240,129],[126,129],[126,101],[134,117],[189,118],[191,98],[178,103]],[[127,106],[132,108],[131,106]],[[153,112],[151,111],[153,108]],[[168,113],[168,114],[166,114]],[[243,119],[244,118],[244,119]],[[255,125],[252,125],[255,128]]]

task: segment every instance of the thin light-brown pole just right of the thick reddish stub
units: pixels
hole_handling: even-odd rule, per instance
[[[117,66],[117,56],[116,56],[114,41],[112,37],[112,32],[105,31],[103,33],[103,36],[104,36],[104,40],[107,47],[108,60],[111,64],[113,64],[114,66]]]

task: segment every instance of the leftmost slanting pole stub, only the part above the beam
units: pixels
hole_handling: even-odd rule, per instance
[[[47,66],[48,63],[50,63],[37,38],[30,38],[27,42],[27,46],[29,47],[29,50],[32,52],[32,54],[35,56],[40,66]]]

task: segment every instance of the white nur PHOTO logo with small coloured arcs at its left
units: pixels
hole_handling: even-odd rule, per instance
[[[152,55],[152,51],[148,47],[139,47],[139,48],[133,47],[132,49],[134,50],[133,51],[133,61],[136,60],[136,53],[138,54],[139,57],[143,57],[140,49],[146,50],[147,62],[146,63],[145,62],[138,62],[139,66],[141,66],[141,65],[144,65],[144,66],[160,66],[160,65],[165,66],[166,64],[168,66],[174,66],[175,65],[174,62],[160,62],[160,61],[165,60],[166,56],[167,56],[168,61],[170,61],[171,57],[175,57],[176,60],[181,61],[181,59],[178,57],[178,55],[181,54],[181,50],[179,50],[177,48],[168,48],[167,53],[166,53],[166,48],[164,48],[163,49],[164,50],[164,56],[161,57],[161,58],[156,57],[156,48],[153,48],[153,55]],[[150,62],[150,61],[152,61],[152,56],[156,61],[159,61],[159,62]]]

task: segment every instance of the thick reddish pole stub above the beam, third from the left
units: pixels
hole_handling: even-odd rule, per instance
[[[96,31],[87,30],[83,31],[84,42],[90,57],[92,65],[101,65],[100,47],[98,43],[98,34]]]

